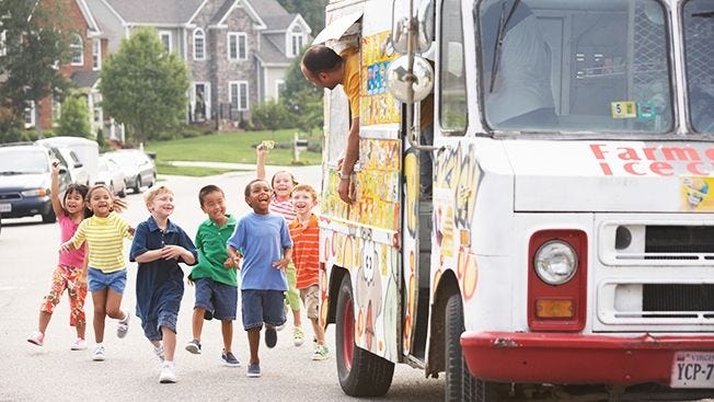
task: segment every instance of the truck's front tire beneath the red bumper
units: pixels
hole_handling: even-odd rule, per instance
[[[461,295],[451,295],[446,309],[446,400],[449,402],[498,401],[495,384],[471,376],[461,353],[463,305]]]

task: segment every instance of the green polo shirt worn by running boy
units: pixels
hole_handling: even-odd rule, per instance
[[[226,242],[235,230],[235,218],[226,214],[228,222],[221,226],[206,219],[196,231],[196,249],[198,250],[198,264],[191,271],[188,278],[211,278],[221,284],[238,286],[235,268],[226,268],[223,263],[228,259]]]

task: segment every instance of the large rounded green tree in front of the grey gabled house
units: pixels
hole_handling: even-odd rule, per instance
[[[100,73],[104,111],[127,125],[137,142],[177,127],[185,116],[188,73],[156,30],[140,27],[124,39]]]

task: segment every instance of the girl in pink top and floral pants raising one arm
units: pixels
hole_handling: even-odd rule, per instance
[[[85,198],[88,187],[81,184],[70,184],[65,192],[64,206],[59,199],[59,161],[53,162],[51,202],[53,210],[59,222],[62,242],[71,239],[79,223],[92,213],[87,207]],[[87,252],[82,246],[79,250],[60,251],[59,262],[53,273],[53,283],[49,291],[44,297],[39,307],[39,323],[37,331],[33,332],[27,342],[42,346],[45,342],[45,331],[53,311],[62,294],[67,289],[69,296],[69,324],[77,329],[77,340],[71,346],[72,351],[87,348],[84,330],[84,298],[87,297]]]

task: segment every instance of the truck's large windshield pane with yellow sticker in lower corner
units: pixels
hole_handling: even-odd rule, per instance
[[[669,41],[658,1],[485,0],[474,19],[488,127],[672,130]]]

